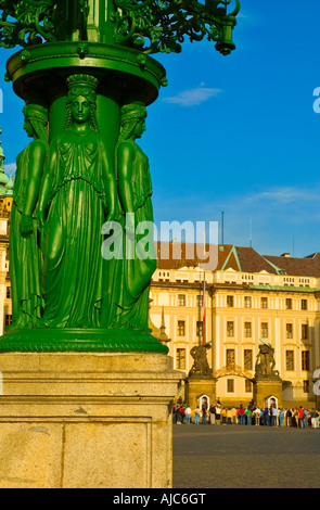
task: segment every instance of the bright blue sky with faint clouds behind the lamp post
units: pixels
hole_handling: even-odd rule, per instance
[[[154,55],[168,87],[149,107],[140,144],[155,222],[220,222],[223,212],[225,243],[248,246],[252,238],[261,254],[307,256],[320,251],[320,2],[241,3],[231,55],[206,40]],[[0,50],[1,79],[11,53]],[[1,89],[10,166],[28,139],[23,102],[11,84]]]

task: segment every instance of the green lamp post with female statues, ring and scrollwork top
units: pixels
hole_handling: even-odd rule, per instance
[[[148,327],[156,256],[141,229],[152,184],[137,140],[166,85],[150,55],[205,37],[228,55],[239,11],[239,0],[0,0],[0,46],[23,48],[7,78],[30,137],[17,156],[1,352],[168,352]]]

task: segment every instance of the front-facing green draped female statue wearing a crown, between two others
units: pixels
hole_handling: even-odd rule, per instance
[[[65,126],[50,145],[40,199],[44,231],[43,324],[100,328],[101,227],[114,218],[114,162],[97,124],[98,79],[67,80]]]

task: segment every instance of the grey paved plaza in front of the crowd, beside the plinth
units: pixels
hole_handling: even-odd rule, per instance
[[[320,487],[320,429],[172,426],[174,488]]]

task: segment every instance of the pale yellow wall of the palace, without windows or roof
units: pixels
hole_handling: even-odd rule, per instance
[[[169,342],[169,355],[174,358],[174,368],[182,369],[185,374],[192,367],[193,359],[190,350],[197,345],[202,339],[196,336],[196,321],[202,320],[202,308],[197,306],[196,296],[202,295],[202,283],[199,282],[194,289],[194,275],[192,270],[185,271],[190,285],[175,281],[175,271],[167,271],[166,281],[152,282],[151,295],[151,318],[159,327],[162,307],[165,311],[166,333],[171,339]],[[199,278],[199,273],[197,273]],[[242,282],[241,273],[233,273],[233,281]],[[257,277],[252,277],[257,281]],[[255,362],[259,352],[261,339],[261,324],[268,324],[268,336],[264,340],[274,348],[276,370],[280,377],[286,381],[283,394],[287,400],[315,400],[312,392],[313,371],[320,366],[319,357],[319,298],[316,289],[318,281],[315,279],[315,288],[303,288],[300,291],[295,288],[293,291],[285,286],[283,277],[271,276],[270,285],[277,283],[281,290],[265,289],[242,289],[229,288],[222,284],[223,275],[216,271],[212,276],[213,281],[220,281],[220,286],[207,284],[206,292],[206,341],[212,342],[213,348],[209,350],[208,360],[214,372],[223,369],[227,365],[227,349],[234,350],[234,364],[244,369],[244,350],[252,349],[252,375],[255,371]],[[273,281],[272,281],[273,280]],[[283,284],[284,283],[284,284]],[[192,286],[193,284],[193,286]],[[276,286],[276,285],[274,285]],[[320,286],[320,285],[319,285]],[[286,290],[287,289],[287,290]],[[178,305],[178,295],[185,295],[185,306]],[[233,297],[233,306],[228,306],[227,296]],[[251,297],[252,306],[245,307],[245,296]],[[261,307],[261,298],[267,297],[268,307]],[[292,309],[286,308],[286,299],[292,299]],[[302,299],[307,299],[307,309],[302,309]],[[178,321],[185,322],[185,335],[178,335]],[[233,336],[227,334],[227,322],[233,322]],[[244,324],[252,324],[252,336],[244,334]],[[286,324],[292,324],[292,335],[287,332]],[[302,327],[307,324],[308,335],[302,339]],[[292,337],[287,337],[292,336]],[[184,369],[179,366],[178,349],[185,349]],[[294,370],[287,370],[286,350],[293,350]],[[309,353],[309,370],[303,370],[302,353]],[[233,379],[233,392],[228,393],[227,381]],[[304,391],[304,381],[308,381],[309,393]],[[220,377],[217,380],[217,396],[222,399],[241,400],[251,399],[252,391],[246,386],[245,379],[233,375]],[[285,399],[285,398],[284,398]]]

